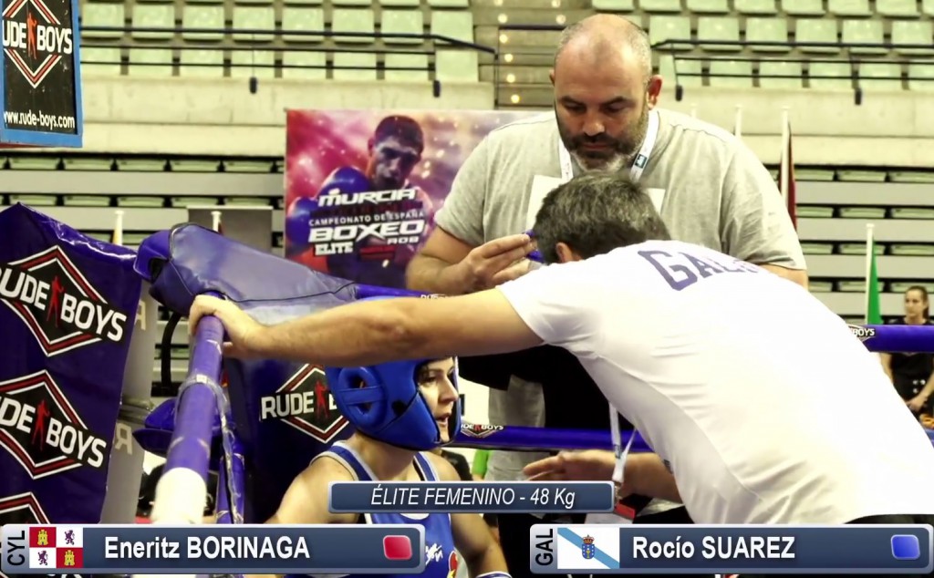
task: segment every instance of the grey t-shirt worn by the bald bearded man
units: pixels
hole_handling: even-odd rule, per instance
[[[661,216],[672,237],[744,261],[805,269],[785,202],[756,155],[710,123],[657,110],[658,139],[639,182],[665,191]],[[494,130],[460,167],[435,222],[474,247],[522,233],[534,177],[561,176],[558,143],[552,112]],[[491,423],[544,425],[544,403],[531,402],[541,396],[537,384],[516,378],[506,391],[491,389]],[[487,479],[515,480],[540,456],[493,452]]]

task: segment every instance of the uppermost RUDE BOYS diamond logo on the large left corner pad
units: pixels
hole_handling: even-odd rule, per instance
[[[59,246],[0,262],[0,303],[20,317],[48,357],[102,341],[119,344],[128,317],[107,303]]]

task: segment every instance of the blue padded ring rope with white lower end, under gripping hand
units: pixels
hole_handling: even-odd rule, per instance
[[[188,375],[178,389],[175,429],[152,505],[153,524],[201,524],[207,503],[212,429],[225,404],[220,388],[224,328],[217,317],[198,322]]]

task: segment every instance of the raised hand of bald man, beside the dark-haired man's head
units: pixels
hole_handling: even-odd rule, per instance
[[[509,235],[475,247],[455,266],[465,287],[474,291],[492,289],[531,271],[531,261],[525,257],[534,249],[529,235]]]

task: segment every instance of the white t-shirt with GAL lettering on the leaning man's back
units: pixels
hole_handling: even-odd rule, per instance
[[[846,323],[791,281],[651,241],[499,290],[671,464],[695,523],[934,514],[927,434]]]

